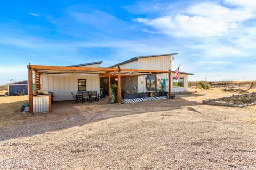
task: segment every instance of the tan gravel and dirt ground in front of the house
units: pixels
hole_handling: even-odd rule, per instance
[[[256,89],[249,92],[256,92]],[[56,102],[28,115],[28,96],[0,97],[2,169],[256,169],[256,106],[210,106],[221,89],[133,104]]]

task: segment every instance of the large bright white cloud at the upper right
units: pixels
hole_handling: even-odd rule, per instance
[[[243,7],[228,8],[215,3],[203,2],[181,9],[174,15],[154,19],[137,18],[158,33],[177,37],[213,37],[229,35],[234,29],[256,13]]]

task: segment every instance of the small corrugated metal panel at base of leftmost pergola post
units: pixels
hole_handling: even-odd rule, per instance
[[[49,96],[33,96],[33,113],[49,111]]]

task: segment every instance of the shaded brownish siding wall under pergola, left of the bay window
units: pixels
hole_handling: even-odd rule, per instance
[[[138,88],[138,77],[121,78],[121,89],[125,94],[133,94],[133,86]],[[138,92],[138,90],[137,90]]]

